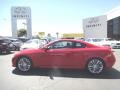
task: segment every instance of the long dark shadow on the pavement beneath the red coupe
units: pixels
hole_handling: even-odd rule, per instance
[[[65,77],[65,78],[89,78],[89,79],[120,79],[120,72],[114,68],[107,70],[100,75],[92,75],[86,71],[80,70],[66,70],[66,69],[33,69],[29,72],[20,72],[14,69],[13,74],[22,76],[48,76],[51,80],[54,77]]]

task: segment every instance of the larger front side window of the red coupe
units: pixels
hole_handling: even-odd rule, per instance
[[[59,49],[59,48],[72,48],[73,42],[70,41],[60,41],[50,45],[48,48]]]

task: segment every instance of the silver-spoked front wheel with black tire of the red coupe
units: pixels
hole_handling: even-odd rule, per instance
[[[17,69],[21,72],[28,72],[32,68],[32,61],[28,57],[22,56],[17,61]]]

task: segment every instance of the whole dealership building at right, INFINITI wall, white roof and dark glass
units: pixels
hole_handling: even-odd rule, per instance
[[[83,19],[85,38],[112,38],[120,40],[120,7],[106,15]]]

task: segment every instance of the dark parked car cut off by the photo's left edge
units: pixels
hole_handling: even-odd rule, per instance
[[[3,38],[0,38],[0,54],[10,53],[9,42]]]

